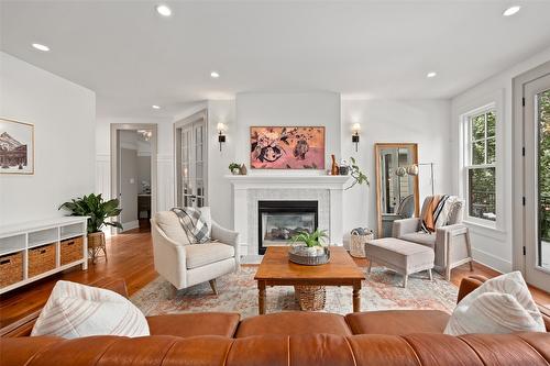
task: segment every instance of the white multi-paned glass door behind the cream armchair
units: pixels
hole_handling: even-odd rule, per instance
[[[176,197],[178,207],[204,207],[207,199],[207,133],[201,113],[176,123]]]

